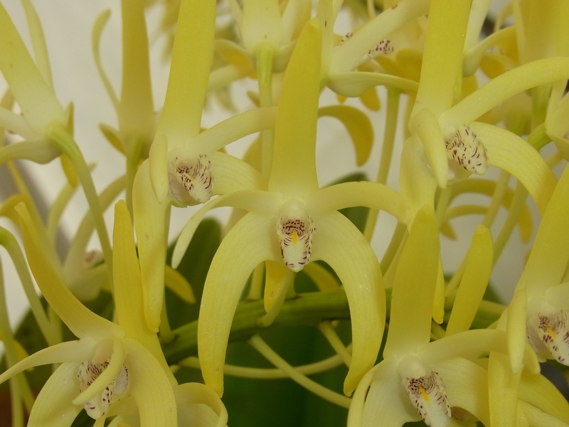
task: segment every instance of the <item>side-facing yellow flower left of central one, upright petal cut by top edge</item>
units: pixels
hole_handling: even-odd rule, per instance
[[[218,151],[240,137],[270,129],[275,110],[252,110],[200,133],[213,56],[216,4],[181,3],[166,100],[149,159],[134,177],[133,218],[143,271],[144,312],[158,330],[171,206],[208,201],[214,194],[266,186],[255,169]],[[152,230],[151,233],[148,231]]]

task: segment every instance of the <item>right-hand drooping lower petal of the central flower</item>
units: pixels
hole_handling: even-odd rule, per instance
[[[376,254],[345,216],[331,212],[314,223],[312,259],[330,265],[348,297],[353,348],[344,393],[349,395],[378,355],[385,327],[383,277]]]

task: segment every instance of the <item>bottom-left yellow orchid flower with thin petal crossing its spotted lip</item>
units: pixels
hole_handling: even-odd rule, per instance
[[[139,263],[124,201],[115,208],[113,275],[117,323],[90,312],[70,293],[42,250],[26,207],[20,205],[16,209],[21,215],[32,273],[50,306],[78,337],[77,341],[32,354],[0,374],[2,382],[29,367],[60,363],[33,405],[28,425],[70,426],[83,408],[92,418],[104,420],[118,401],[132,399],[141,425],[177,426],[175,390],[179,386],[156,334],[144,320]],[[194,400],[199,398],[196,391],[190,394]],[[211,397],[206,396],[204,401],[208,399]],[[220,410],[219,405],[216,410]]]

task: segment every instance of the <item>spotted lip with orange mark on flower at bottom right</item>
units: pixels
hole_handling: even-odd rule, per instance
[[[447,427],[452,416],[445,394],[445,383],[435,371],[420,378],[403,379],[403,387],[425,424]]]

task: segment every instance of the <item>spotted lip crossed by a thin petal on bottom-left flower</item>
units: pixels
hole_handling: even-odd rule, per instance
[[[77,374],[80,392],[83,393],[108,366],[109,359],[106,359],[102,363],[82,362]],[[129,371],[127,367],[123,365],[116,378],[103,389],[101,394],[85,402],[84,407],[87,415],[95,420],[105,415],[109,410],[110,404],[118,400],[116,396],[124,394],[124,392],[127,391],[128,384]],[[113,396],[115,396],[114,400]]]

